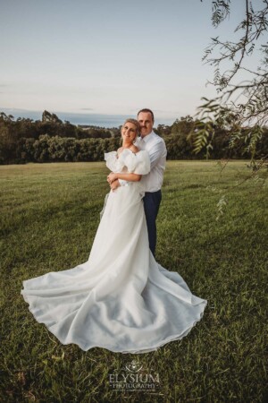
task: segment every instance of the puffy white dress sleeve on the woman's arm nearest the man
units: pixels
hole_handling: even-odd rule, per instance
[[[137,154],[130,150],[124,150],[119,159],[130,173],[147,175],[150,172],[150,158],[147,150],[138,151]]]

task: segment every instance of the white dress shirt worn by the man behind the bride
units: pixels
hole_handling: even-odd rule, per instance
[[[144,192],[157,192],[163,184],[163,171],[166,161],[166,147],[162,137],[155,132],[147,134],[144,138],[138,137],[135,145],[139,150],[147,150],[151,162],[151,170],[147,175],[143,175],[140,184]],[[128,182],[119,179],[121,186]]]

